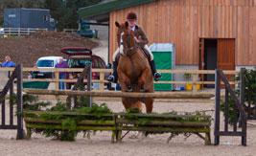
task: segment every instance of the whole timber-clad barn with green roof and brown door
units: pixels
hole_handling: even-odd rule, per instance
[[[109,60],[117,48],[115,21],[138,15],[151,43],[174,43],[177,68],[234,70],[256,66],[256,0],[108,0],[81,8],[84,19],[109,23]]]

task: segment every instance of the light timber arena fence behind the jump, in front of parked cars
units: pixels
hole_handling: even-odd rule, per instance
[[[24,82],[50,82],[54,83],[55,90],[58,90],[59,88],[59,82],[66,82],[69,83],[75,83],[77,81],[77,78],[68,78],[68,79],[59,79],[59,73],[60,72],[66,72],[68,74],[82,72],[83,69],[81,68],[58,68],[58,69],[41,69],[41,68],[23,68],[23,81]],[[13,71],[13,68],[0,68],[0,72],[8,72]],[[50,72],[53,73],[53,78],[32,78],[29,77],[29,75],[33,72]],[[92,79],[92,89],[97,91],[105,91],[107,89],[107,85],[111,85],[106,78],[107,76],[112,72],[111,69],[92,69],[93,74],[97,74],[99,77]],[[185,85],[187,83],[190,83],[192,85],[192,92],[198,92],[200,89],[198,89],[198,86],[200,88],[203,88],[203,85],[205,84],[215,84],[215,81],[204,81],[201,77],[206,77],[206,75],[215,75],[214,70],[159,70],[162,74],[173,74],[173,75],[184,75],[189,74],[191,76],[191,79],[188,81],[184,80],[159,80],[154,81],[154,84],[174,84],[174,85]],[[223,71],[225,75],[229,76],[236,76],[238,74],[237,71]],[[2,78],[2,80],[4,80]],[[7,80],[7,79],[6,79]],[[229,79],[230,84],[236,84],[235,78]],[[84,79],[84,82],[86,82],[86,79]],[[221,82],[222,83],[222,82]],[[223,84],[223,83],[222,83]]]

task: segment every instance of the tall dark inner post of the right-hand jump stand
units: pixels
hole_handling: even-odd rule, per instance
[[[220,101],[221,101],[221,79],[219,70],[215,70],[215,123],[214,123],[214,144],[220,144]]]

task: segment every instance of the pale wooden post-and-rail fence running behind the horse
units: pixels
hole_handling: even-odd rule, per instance
[[[1,68],[0,67],[0,75],[4,75],[3,72],[5,72],[6,76],[8,72],[12,72],[14,68]],[[58,69],[38,69],[38,68],[23,68],[23,73],[31,73],[35,71],[40,71],[40,72],[53,72],[54,73],[54,78],[23,78],[23,81],[48,81],[48,82],[53,82],[55,83],[55,89],[58,90],[58,82],[76,82],[76,78],[68,78],[68,79],[59,79],[58,75],[59,72],[66,72],[66,73],[72,73],[72,72],[81,72],[81,68],[58,68]],[[109,74],[112,72],[111,69],[92,69],[92,72],[94,73],[99,73],[100,78],[98,79],[92,79],[92,82],[95,84],[99,84],[99,87],[97,90],[104,91],[105,90],[105,83],[108,81],[105,80],[105,74]],[[204,84],[215,84],[215,81],[204,81],[202,79],[199,79],[199,76],[206,76],[206,75],[215,75],[215,70],[158,70],[158,72],[164,74],[190,74],[191,79],[189,81],[181,81],[181,80],[160,80],[160,81],[154,81],[154,83],[160,83],[160,84],[187,84],[190,83],[192,87],[193,92],[197,92],[198,88],[197,85],[204,85]],[[225,75],[229,76],[236,76],[239,72],[238,71],[223,71]],[[1,78],[1,80],[7,80],[7,78]],[[86,82],[86,80],[84,80]],[[235,79],[230,79],[230,84],[234,85],[236,84],[237,81]]]

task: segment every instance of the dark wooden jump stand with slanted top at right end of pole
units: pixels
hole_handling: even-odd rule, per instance
[[[241,71],[241,74],[243,70]],[[221,136],[241,136],[242,145],[246,145],[246,114],[244,111],[244,79],[241,77],[240,85],[240,100],[232,89],[228,79],[224,76],[223,72],[219,69],[215,74],[215,145],[220,145]],[[225,97],[224,97],[224,129],[221,130],[221,81],[224,82]],[[230,102],[234,102],[234,106],[231,107]],[[233,119],[231,119],[230,109],[233,109]],[[228,124],[232,123],[233,128],[229,129]],[[238,124],[241,123],[242,128],[238,128]]]

